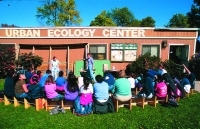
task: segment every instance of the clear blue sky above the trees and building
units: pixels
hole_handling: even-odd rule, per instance
[[[75,0],[76,10],[83,19],[81,26],[89,26],[103,10],[127,7],[136,19],[151,16],[156,27],[164,27],[177,13],[190,11],[193,0]],[[35,17],[41,0],[0,0],[0,24],[14,24],[19,27],[42,27],[44,21]]]

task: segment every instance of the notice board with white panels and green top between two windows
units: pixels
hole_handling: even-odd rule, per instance
[[[112,43],[111,61],[135,61],[137,53],[136,43]]]

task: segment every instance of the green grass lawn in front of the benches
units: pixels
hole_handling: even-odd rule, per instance
[[[132,110],[120,108],[118,113],[74,116],[69,110],[66,114],[50,115],[33,107],[25,110],[23,106],[0,103],[1,129],[199,129],[200,93],[181,99],[179,107],[166,108],[160,104],[156,108],[133,107]]]

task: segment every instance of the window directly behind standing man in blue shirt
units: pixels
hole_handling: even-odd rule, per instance
[[[106,59],[106,44],[105,45],[90,45],[90,53],[94,60]]]

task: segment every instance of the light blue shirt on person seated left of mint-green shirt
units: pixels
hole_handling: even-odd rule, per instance
[[[94,96],[97,100],[107,100],[109,97],[108,84],[106,82],[94,83]]]

